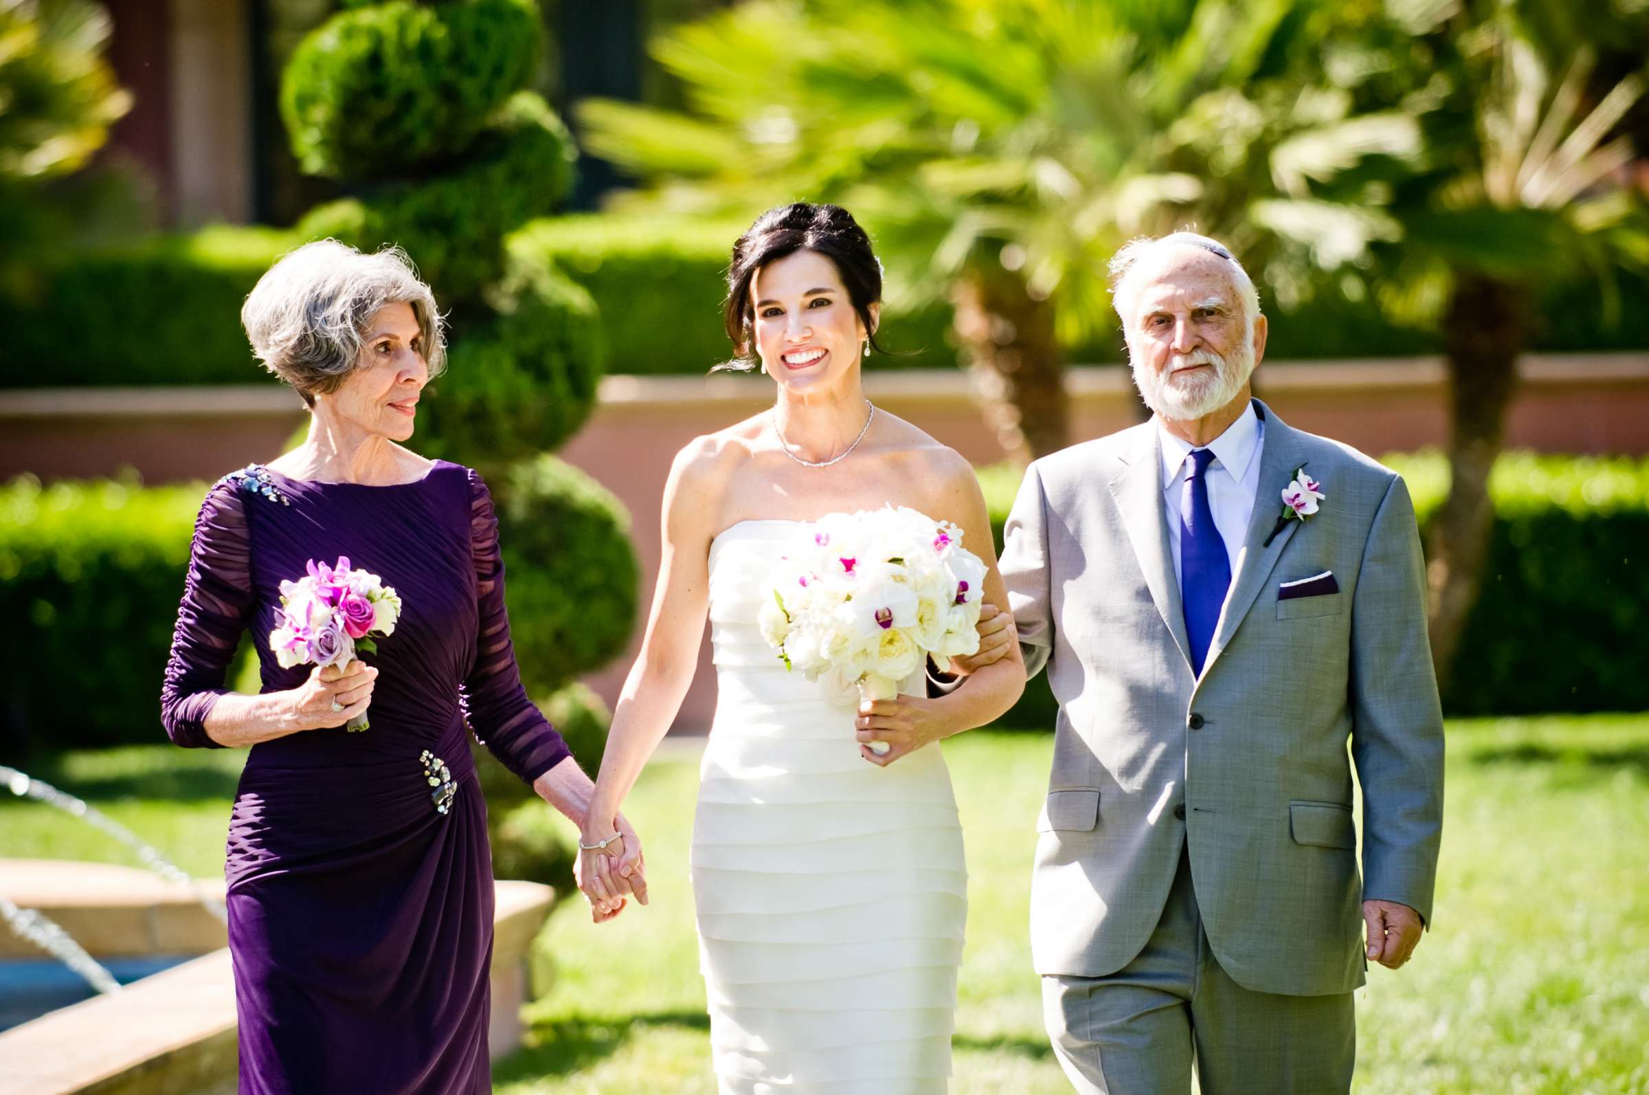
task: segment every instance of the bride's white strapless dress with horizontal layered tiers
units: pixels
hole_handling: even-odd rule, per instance
[[[938,745],[864,760],[854,709],[762,640],[762,582],[800,528],[711,544],[719,699],[691,862],[716,1075],[740,1095],[942,1093],[968,917],[950,772]]]

